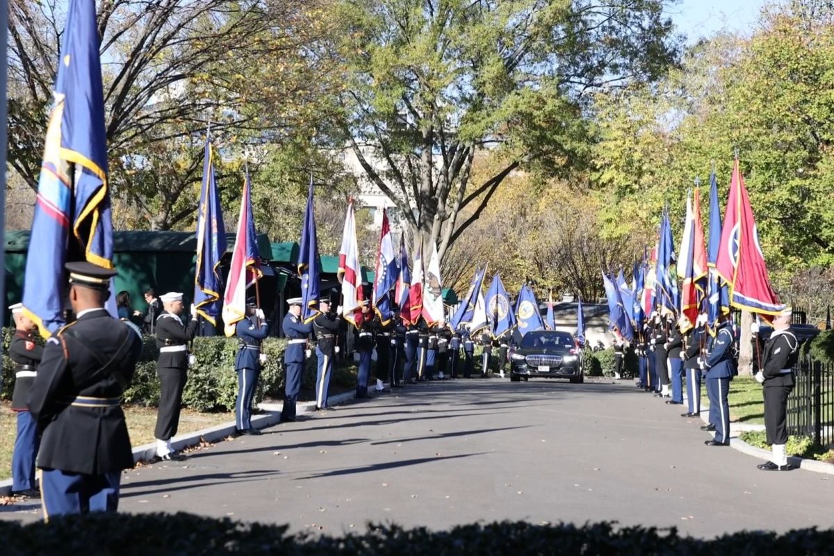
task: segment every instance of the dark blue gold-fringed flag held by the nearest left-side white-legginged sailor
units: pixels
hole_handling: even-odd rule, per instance
[[[209,323],[217,325],[220,313],[220,259],[226,252],[226,229],[217,183],[214,181],[214,148],[206,134],[203,187],[197,209],[197,272],[194,273],[194,306]]]

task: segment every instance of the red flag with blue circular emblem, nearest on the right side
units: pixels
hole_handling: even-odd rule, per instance
[[[732,170],[716,270],[730,288],[733,307],[764,315],[779,313],[784,308],[776,298],[767,276],[756,220],[753,218],[744,178],[741,177],[738,158]]]

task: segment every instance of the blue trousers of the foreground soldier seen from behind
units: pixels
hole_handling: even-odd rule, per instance
[[[121,474],[83,475],[41,469],[43,520],[65,513],[115,512]]]

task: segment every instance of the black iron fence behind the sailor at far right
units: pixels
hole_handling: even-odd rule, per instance
[[[788,434],[834,444],[834,364],[802,356],[793,368],[796,385],[787,398]]]

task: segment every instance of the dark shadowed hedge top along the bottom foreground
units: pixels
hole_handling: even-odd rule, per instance
[[[681,536],[676,528],[619,528],[615,523],[534,525],[477,523],[448,531],[369,523],[368,533],[340,537],[289,535],[286,525],[239,523],[188,513],[91,513],[49,523],[0,522],[3,553],[154,556],[182,554],[293,554],[295,556],[422,556],[423,554],[825,554],[834,529],[797,529],[785,534],[741,532],[711,540]]]

